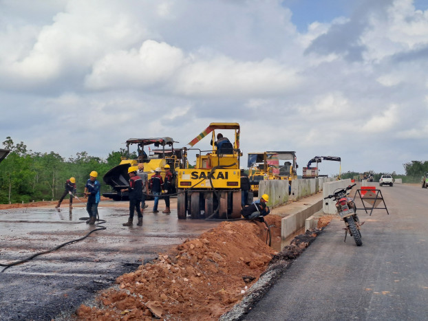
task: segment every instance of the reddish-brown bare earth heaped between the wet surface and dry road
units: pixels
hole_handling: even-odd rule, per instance
[[[0,209],[54,206],[53,202],[0,205]],[[275,212],[277,214],[275,214]],[[324,216],[319,228],[333,216]],[[281,243],[281,208],[266,217],[272,243]],[[76,320],[218,320],[250,291],[261,274],[279,258],[297,257],[317,233],[299,236],[281,252],[266,244],[267,228],[253,221],[223,222],[197,239],[188,239],[117,278],[115,287],[100,291],[82,305]],[[309,238],[309,239],[308,239]],[[309,241],[308,241],[309,240]]]

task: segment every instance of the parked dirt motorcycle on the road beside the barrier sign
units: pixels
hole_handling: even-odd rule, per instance
[[[337,188],[334,190],[333,195],[328,195],[328,197],[324,197],[324,199],[332,199],[334,198],[334,201],[336,201],[336,210],[345,221],[346,228],[345,230],[345,242],[346,242],[346,235],[349,232],[350,236],[354,237],[354,241],[356,243],[356,246],[363,245],[363,241],[361,241],[361,225],[363,223],[360,223],[359,217],[356,215],[356,206],[354,203],[354,199],[352,197],[347,197],[349,195],[348,190],[356,186],[350,185],[347,186],[347,188]],[[325,205],[328,205],[328,203],[325,203]]]

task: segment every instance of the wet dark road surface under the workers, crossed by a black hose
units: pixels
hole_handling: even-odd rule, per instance
[[[67,319],[98,290],[114,285],[118,276],[219,224],[178,220],[171,208],[171,214],[147,212],[142,227],[136,225],[135,215],[133,227],[128,228],[122,223],[129,210],[109,206],[111,202],[106,201],[98,208],[100,219],[107,220],[103,224],[107,230],[0,273],[0,320]],[[96,228],[81,217],[87,217],[83,205],[69,212],[67,200],[61,210],[0,210],[0,263],[50,250]]]

